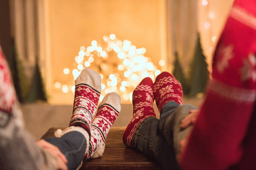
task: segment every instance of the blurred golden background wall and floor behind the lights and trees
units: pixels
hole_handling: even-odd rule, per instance
[[[0,44],[9,57],[15,39],[27,82],[31,82],[35,58],[49,95],[48,104],[23,104],[26,126],[38,139],[49,127],[66,126],[73,92],[56,88],[72,84],[72,70],[80,47],[93,40],[106,44],[103,36],[115,34],[137,48],[160,71],[172,71],[174,53],[179,54],[188,76],[197,33],[211,71],[212,54],[234,0],[2,0],[0,1]],[[163,60],[163,62],[160,62]],[[85,67],[85,66],[84,66]],[[64,68],[70,74],[64,74]],[[155,76],[155,75],[154,75]],[[199,106],[202,99],[184,99]],[[66,106],[64,106],[66,105]],[[126,126],[131,101],[122,101],[116,126]]]

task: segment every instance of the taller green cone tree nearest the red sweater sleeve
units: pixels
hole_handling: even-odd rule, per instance
[[[200,42],[200,35],[198,33],[197,45],[195,48],[194,57],[190,70],[190,91],[189,97],[195,96],[198,93],[202,93],[205,90],[207,82],[209,80],[209,71],[207,69],[206,57],[203,54],[203,50]]]

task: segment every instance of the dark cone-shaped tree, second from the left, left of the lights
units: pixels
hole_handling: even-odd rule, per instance
[[[28,102],[42,100],[47,102],[47,94],[44,88],[44,81],[38,64],[38,57],[35,61],[35,72],[32,78],[32,85],[28,95]]]

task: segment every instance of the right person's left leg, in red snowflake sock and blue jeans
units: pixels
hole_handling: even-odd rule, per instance
[[[135,88],[133,92],[134,111],[123,134],[124,144],[139,150],[167,168],[178,169],[175,151],[159,130],[159,120],[155,117],[152,105],[154,99],[152,94],[153,82],[150,78],[143,79]],[[127,139],[131,139],[131,142],[127,142],[129,141]]]

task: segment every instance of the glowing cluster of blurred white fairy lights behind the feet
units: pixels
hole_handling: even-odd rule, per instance
[[[160,74],[160,70],[145,57],[146,49],[137,48],[129,40],[119,40],[115,34],[103,36],[103,43],[96,40],[85,48],[80,47],[79,55],[74,58],[77,67],[73,69],[64,68],[64,74],[73,74],[76,79],[84,68],[91,68],[98,72],[102,79],[102,93],[100,101],[105,94],[116,92],[121,99],[128,101],[132,99],[132,91],[145,77],[152,80]],[[159,65],[165,65],[164,60]],[[72,70],[72,72],[70,71]],[[75,91],[74,85],[61,85],[55,82],[55,88],[61,89],[63,93]]]

